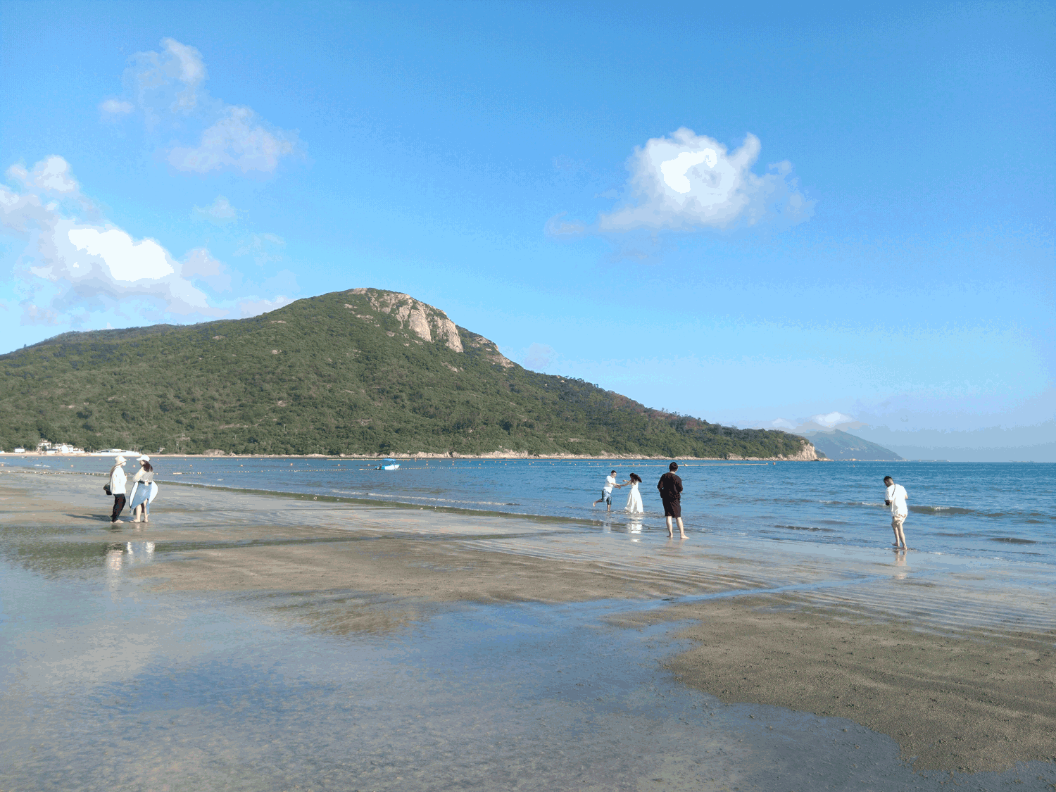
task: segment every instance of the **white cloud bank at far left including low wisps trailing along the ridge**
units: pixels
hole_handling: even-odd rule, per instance
[[[15,272],[23,324],[78,326],[98,310],[201,321],[290,302],[280,295],[245,296],[237,310],[214,304],[192,281],[219,291],[230,288],[231,277],[208,249],[180,261],[157,240],[135,239],[108,222],[57,154],[32,169],[14,165],[6,175],[20,184],[0,184],[0,230],[25,242]]]

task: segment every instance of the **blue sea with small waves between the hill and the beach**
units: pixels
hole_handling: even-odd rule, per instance
[[[109,457],[15,457],[7,466],[105,473]],[[215,487],[335,495],[420,507],[562,517],[584,530],[658,529],[663,511],[656,482],[666,464],[655,460],[429,460],[377,463],[327,458],[156,459],[157,480]],[[605,475],[631,472],[645,514],[623,513],[626,489],[614,510],[590,504]],[[130,463],[126,470],[134,471]],[[906,536],[929,552],[1056,564],[1056,465],[1031,463],[686,463],[679,468],[687,529],[789,542],[886,547],[890,513],[883,477],[909,493]],[[100,497],[102,495],[100,494]]]

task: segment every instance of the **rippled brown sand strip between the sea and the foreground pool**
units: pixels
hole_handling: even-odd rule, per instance
[[[581,618],[671,623],[690,648],[654,658],[683,684],[728,703],[848,718],[890,736],[918,769],[1056,758],[1056,602],[1022,564],[922,553],[899,565],[889,552],[692,528],[678,543],[560,518],[234,488],[218,503],[211,486],[178,484],[151,523],[111,527],[95,482],[54,476],[41,494],[32,479],[0,477],[0,535],[33,548],[5,558],[55,574],[56,564],[96,568],[102,552],[113,570],[111,555],[142,558],[133,545],[149,544],[149,563],[126,574],[153,596],[296,597],[290,618],[332,635],[407,630],[439,605],[598,603],[610,615],[591,606]],[[11,532],[22,524],[25,540]]]

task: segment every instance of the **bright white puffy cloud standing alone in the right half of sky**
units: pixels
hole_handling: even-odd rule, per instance
[[[654,137],[628,161],[626,203],[601,214],[598,230],[693,230],[807,220],[813,202],[798,191],[789,163],[772,165],[761,176],[752,172],[759,150],[759,139],[751,134],[733,152],[684,127],[671,137]]]

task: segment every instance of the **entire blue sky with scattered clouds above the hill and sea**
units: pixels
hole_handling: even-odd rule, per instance
[[[1052,3],[262,8],[0,2],[3,351],[376,286],[709,420],[1056,442]]]

